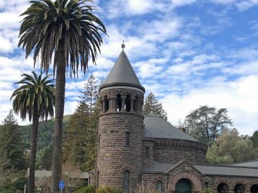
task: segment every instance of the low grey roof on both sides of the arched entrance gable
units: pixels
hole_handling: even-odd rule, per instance
[[[142,168],[143,173],[164,173],[173,168],[175,164],[169,163],[152,163]],[[217,176],[239,176],[239,177],[258,177],[258,168],[240,167],[240,166],[210,166],[196,165],[193,166],[202,174]]]

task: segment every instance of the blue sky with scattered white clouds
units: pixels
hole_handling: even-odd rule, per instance
[[[125,52],[140,82],[177,124],[200,105],[227,108],[241,134],[258,129],[258,0],[94,1],[107,27],[97,66],[67,78],[65,114],[73,113],[89,73],[105,78]],[[0,121],[22,73],[33,70],[17,47],[28,0],[0,0]],[[39,70],[36,67],[36,70]],[[27,124],[21,122],[19,124]]]

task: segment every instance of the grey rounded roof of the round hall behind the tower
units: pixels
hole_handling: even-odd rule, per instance
[[[153,113],[144,117],[143,137],[197,141]]]

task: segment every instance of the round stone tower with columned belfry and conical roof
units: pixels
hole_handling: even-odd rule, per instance
[[[97,185],[128,193],[142,170],[144,87],[124,50],[100,87],[100,95]]]

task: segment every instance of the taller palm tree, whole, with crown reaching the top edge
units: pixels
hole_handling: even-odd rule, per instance
[[[51,192],[58,192],[58,181],[62,174],[63,111],[65,102],[65,71],[69,76],[78,76],[78,68],[86,73],[89,58],[96,65],[106,34],[103,22],[95,16],[95,9],[88,5],[91,0],[35,0],[23,12],[19,46],[28,57],[34,52],[34,65],[39,59],[41,68],[47,73],[54,58],[53,73],[56,73],[56,106],[54,153],[52,161]]]

